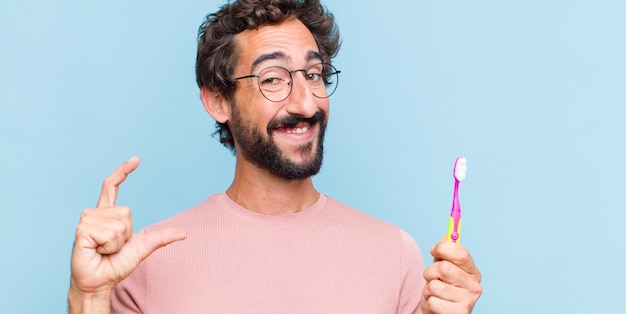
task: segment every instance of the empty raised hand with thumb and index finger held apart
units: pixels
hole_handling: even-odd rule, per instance
[[[173,228],[133,234],[130,208],[115,206],[115,201],[120,184],[138,166],[139,158],[133,157],[115,169],[104,179],[96,208],[80,217],[72,252],[70,313],[109,313],[117,283],[156,249],[187,236]]]

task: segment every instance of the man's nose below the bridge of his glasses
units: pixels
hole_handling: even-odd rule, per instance
[[[320,110],[322,102],[328,99],[321,99],[313,95],[311,86],[306,82],[304,71],[295,71],[291,74],[293,86],[291,86],[291,94],[287,97],[285,108],[288,113],[310,118]]]

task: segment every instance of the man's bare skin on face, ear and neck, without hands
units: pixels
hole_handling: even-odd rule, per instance
[[[311,52],[318,52],[317,45],[309,30],[299,20],[287,20],[278,25],[263,26],[256,30],[240,33],[236,42],[241,49],[241,62],[235,69],[234,77],[258,73],[268,66],[282,66],[287,69],[306,69],[320,59],[310,59]],[[266,59],[255,66],[255,60],[280,52],[284,57]],[[259,91],[256,79],[239,81],[235,102],[242,119],[256,125],[266,139],[267,125],[272,119],[286,115],[312,117],[322,111],[328,116],[328,99],[313,96],[312,91],[298,73],[293,75],[293,89],[282,102],[271,102]],[[208,88],[201,89],[201,98],[207,112],[222,123],[232,119],[232,107],[222,95]],[[307,162],[316,152],[320,125],[309,127],[304,133],[290,133],[289,130],[275,129],[272,137],[283,156],[296,164]],[[232,130],[232,129],[231,129]],[[302,146],[312,143],[313,149],[305,152]],[[237,151],[241,148],[235,140]],[[286,215],[298,212],[313,205],[319,198],[310,177],[303,180],[286,180],[276,177],[266,169],[256,166],[242,154],[237,154],[235,178],[226,191],[237,204],[248,210],[266,215]]]

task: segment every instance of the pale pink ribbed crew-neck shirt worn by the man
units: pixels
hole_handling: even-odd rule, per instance
[[[187,239],[115,289],[113,313],[418,313],[424,264],[398,227],[322,195],[296,214],[248,211],[225,193],[145,228]]]

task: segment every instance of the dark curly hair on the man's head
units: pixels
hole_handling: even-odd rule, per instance
[[[319,0],[235,0],[206,16],[198,30],[196,82],[233,100],[237,84],[232,80],[239,61],[235,35],[287,19],[300,20],[313,34],[323,62],[330,63],[339,52],[339,31],[335,18]],[[216,122],[220,142],[235,151],[235,143],[226,123]]]

